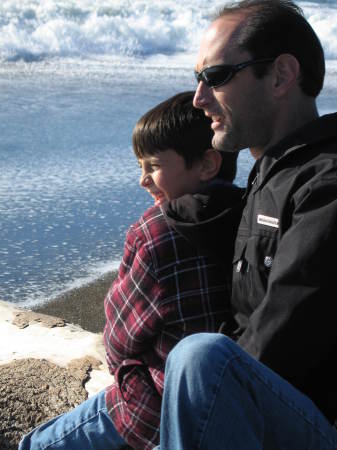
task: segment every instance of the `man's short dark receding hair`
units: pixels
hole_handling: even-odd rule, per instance
[[[302,91],[317,97],[325,75],[324,51],[302,9],[290,0],[242,0],[224,6],[215,19],[236,12],[247,13],[235,36],[236,48],[249,51],[254,59],[293,55],[300,64]],[[262,78],[268,65],[259,64],[253,70]]]

